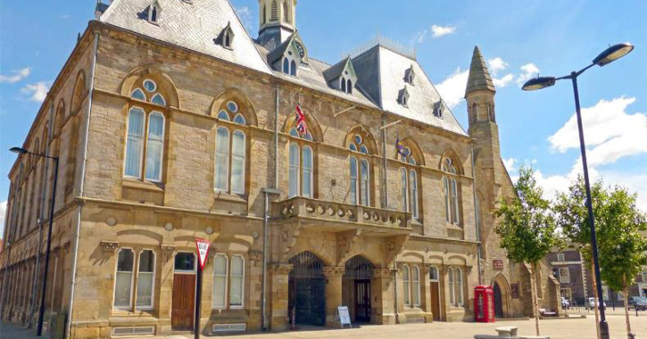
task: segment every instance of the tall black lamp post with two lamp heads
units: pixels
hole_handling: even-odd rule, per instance
[[[572,71],[569,75],[560,77],[560,78],[538,77],[535,79],[530,79],[522,87],[523,90],[525,91],[534,91],[545,87],[552,87],[553,85],[555,85],[555,82],[557,80],[561,80],[561,79],[570,79],[571,82],[573,83],[573,92],[575,95],[575,108],[576,108],[576,117],[577,117],[577,129],[579,131],[579,145],[580,145],[580,151],[582,153],[582,167],[584,169],[584,177],[585,177],[586,209],[588,210],[589,227],[591,228],[591,248],[593,250],[592,251],[593,266],[595,269],[595,280],[597,282],[598,304],[601,305],[600,307],[601,339],[609,339],[609,324],[607,324],[607,319],[604,315],[604,299],[602,294],[602,282],[600,277],[600,262],[598,260],[598,240],[597,240],[597,236],[595,235],[595,221],[593,219],[593,204],[591,201],[591,184],[589,182],[589,170],[588,170],[588,165],[586,163],[585,135],[584,135],[584,128],[582,127],[582,112],[580,110],[579,92],[577,90],[577,77],[579,77],[582,73],[585,72],[585,70],[590,69],[594,65],[598,65],[600,67],[605,66],[610,62],[614,62],[620,59],[621,57],[625,56],[626,54],[629,54],[633,50],[634,50],[634,45],[631,45],[628,43],[612,45],[609,48],[607,48],[604,52],[602,52],[600,55],[598,55],[595,59],[593,59],[593,62],[591,62],[590,65],[586,66],[582,70]]]

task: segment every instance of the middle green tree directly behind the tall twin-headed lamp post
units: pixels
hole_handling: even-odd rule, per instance
[[[591,186],[591,200],[593,202],[593,215],[595,224],[601,222],[601,206],[606,200],[607,193],[601,181],[596,181]],[[586,188],[582,176],[577,176],[570,186],[568,193],[561,193],[557,196],[552,210],[557,216],[557,226],[560,228],[565,240],[576,247],[582,253],[585,262],[591,264],[591,272],[594,272],[593,250],[591,248],[591,227],[589,227],[589,214],[586,209]],[[598,236],[600,238],[600,236]],[[595,313],[595,330],[600,338],[600,314],[598,310],[597,282],[593,275],[593,308]]]

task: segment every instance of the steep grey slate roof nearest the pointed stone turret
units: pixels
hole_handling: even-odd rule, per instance
[[[443,99],[416,60],[378,44],[354,57],[353,65],[358,85],[381,109],[467,136],[449,109],[444,110],[442,119],[435,117],[435,104]],[[413,86],[405,81],[408,71],[416,74]],[[400,103],[403,88],[409,95],[406,106]]]

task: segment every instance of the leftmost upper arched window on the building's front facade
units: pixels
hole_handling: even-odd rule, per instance
[[[135,101],[131,102],[129,109],[124,176],[141,179],[144,173],[145,180],[162,182],[166,126],[162,111],[165,107],[156,108],[154,105],[166,106],[166,100],[153,79],[138,80],[130,97]],[[137,100],[154,105],[139,105]]]

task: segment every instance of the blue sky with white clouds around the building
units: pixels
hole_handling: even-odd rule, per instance
[[[256,37],[258,1],[231,1]],[[7,149],[22,144],[77,34],[94,19],[94,7],[95,0],[0,5],[0,227],[9,188],[4,176],[15,160]],[[645,12],[643,0],[301,0],[296,20],[311,57],[325,62],[339,61],[378,32],[415,46],[419,62],[464,128],[466,70],[479,45],[497,85],[502,158],[512,176],[519,163],[532,164],[549,196],[581,168],[572,87],[562,82],[527,93],[518,83],[537,74],[567,74],[610,44],[633,43],[632,54],[587,71],[579,87],[593,177],[638,192],[647,211]]]

